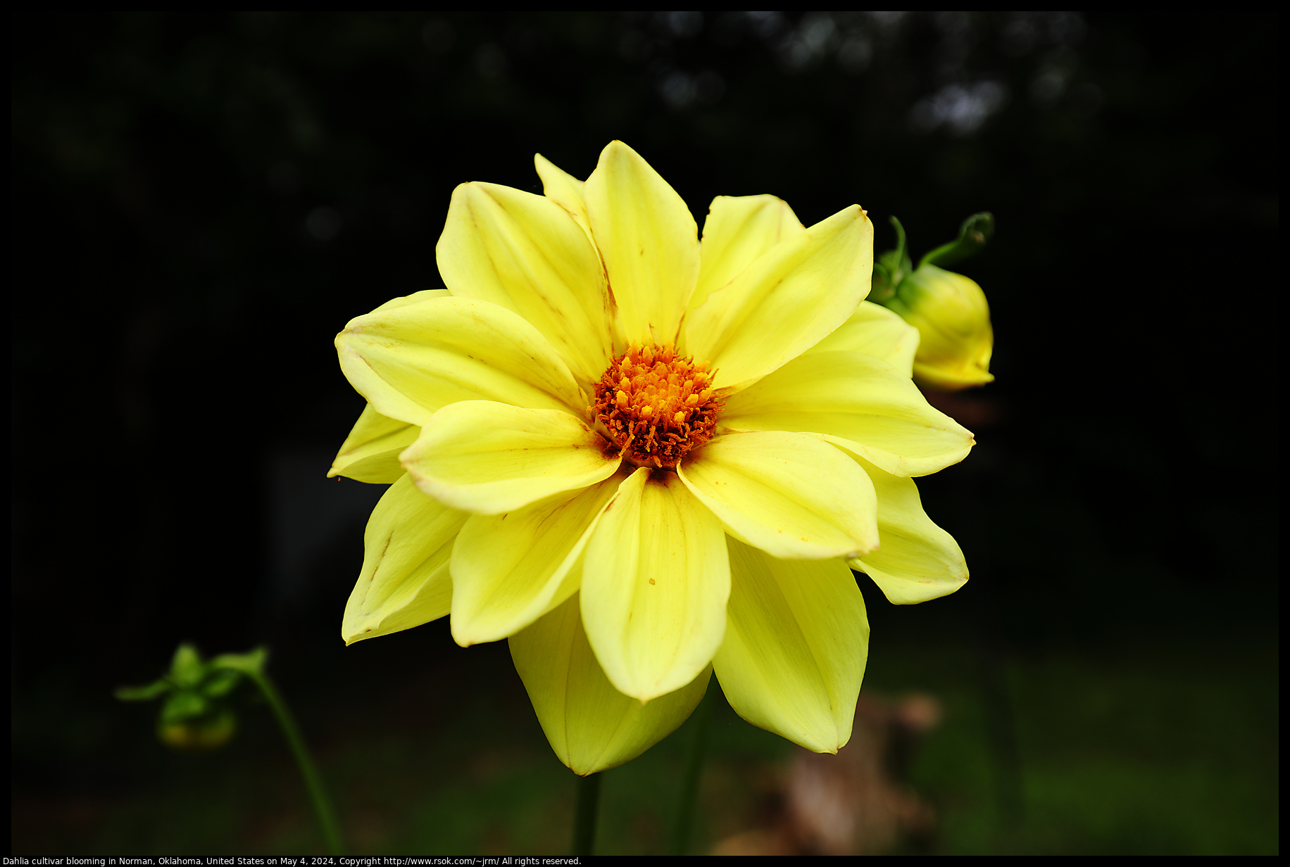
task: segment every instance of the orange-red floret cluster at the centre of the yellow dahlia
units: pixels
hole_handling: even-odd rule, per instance
[[[712,439],[724,403],[712,391],[706,363],[680,357],[670,344],[633,344],[596,383],[596,403],[587,412],[636,466],[675,470]]]

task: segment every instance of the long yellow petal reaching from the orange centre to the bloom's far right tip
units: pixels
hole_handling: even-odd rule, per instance
[[[969,431],[933,409],[907,375],[858,352],[810,352],[733,395],[731,430],[824,435],[898,476],[925,476],[962,461]]]

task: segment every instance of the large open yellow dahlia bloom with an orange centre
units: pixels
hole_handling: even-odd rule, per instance
[[[971,434],[912,384],[917,333],[863,301],[869,221],[721,196],[700,241],[620,142],[586,183],[537,168],[543,196],[459,186],[446,289],[337,337],[368,406],[332,475],[392,483],[346,643],[445,614],[463,646],[510,639],[579,774],[676,729],[713,671],[746,720],[836,751],[868,649],[849,564],[895,603],[968,577],[911,476]]]

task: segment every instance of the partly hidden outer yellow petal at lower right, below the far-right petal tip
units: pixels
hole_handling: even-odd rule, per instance
[[[912,605],[955,592],[968,581],[968,563],[953,537],[922,511],[912,479],[882,472],[857,458],[878,494],[881,547],[848,565],[863,572],[888,600]]]

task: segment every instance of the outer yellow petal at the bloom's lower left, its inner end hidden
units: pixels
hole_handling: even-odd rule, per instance
[[[448,560],[466,512],[437,503],[404,476],[372,510],[362,534],[362,572],[341,623],[346,644],[410,630],[448,614]]]

